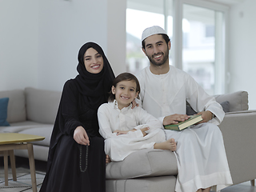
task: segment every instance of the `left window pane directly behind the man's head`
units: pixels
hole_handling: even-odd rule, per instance
[[[126,9],[126,70],[138,73],[150,63],[142,52],[142,32],[150,26],[161,26],[173,36],[173,0],[127,0]],[[170,52],[170,64],[172,63]]]

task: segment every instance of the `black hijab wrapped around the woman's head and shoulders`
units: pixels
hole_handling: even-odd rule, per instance
[[[86,70],[84,64],[84,54],[89,48],[94,48],[98,51],[98,54],[102,55],[104,66],[100,73],[91,74]],[[102,103],[107,102],[108,92],[111,89],[112,82],[114,80],[114,73],[111,69],[106,55],[104,54],[102,47],[94,42],[87,42],[84,44],[78,53],[78,76],[75,78],[78,91],[83,95],[86,105],[91,109],[98,109]]]

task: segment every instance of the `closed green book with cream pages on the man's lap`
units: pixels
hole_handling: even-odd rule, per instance
[[[164,126],[166,130],[184,130],[189,126],[194,125],[197,122],[201,122],[202,117],[201,114],[198,115],[191,115],[190,118],[188,118],[184,122],[178,122],[177,124],[170,124],[167,126]]]

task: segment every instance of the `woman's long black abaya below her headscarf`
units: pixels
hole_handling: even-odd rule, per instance
[[[66,82],[58,115],[65,116],[70,122],[66,123],[68,125],[62,130],[63,134],[57,134],[58,142],[55,145],[52,145],[54,143],[50,145],[46,178],[42,184],[41,192],[105,191],[106,155],[104,139],[98,134],[98,131],[93,129],[94,127],[98,128],[98,121],[94,119],[96,111],[88,108],[82,100],[82,96],[76,90],[74,80]],[[74,106],[77,106],[77,109]],[[80,154],[81,145],[75,142],[72,137],[74,128],[80,126],[80,122],[82,122],[81,126],[88,129],[86,133],[90,138],[87,170],[85,172],[81,170],[86,168],[86,146],[82,146],[82,154]],[[62,123],[55,125],[57,124]],[[92,129],[90,130],[90,128]],[[54,135],[55,132],[53,137]],[[80,155],[82,155],[81,165]]]

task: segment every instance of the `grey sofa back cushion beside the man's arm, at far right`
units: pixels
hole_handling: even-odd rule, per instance
[[[216,102],[229,102],[230,112],[248,110],[248,92],[247,91],[237,91],[231,94],[218,94],[214,95]]]

